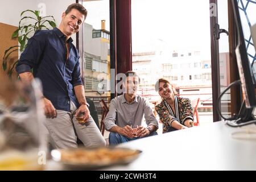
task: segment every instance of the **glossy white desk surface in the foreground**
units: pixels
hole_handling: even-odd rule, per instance
[[[256,139],[232,138],[239,130],[216,122],[123,143],[142,150],[141,156],[102,170],[256,170]]]

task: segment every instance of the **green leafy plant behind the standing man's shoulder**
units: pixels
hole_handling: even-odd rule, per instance
[[[30,13],[30,16],[24,15],[25,13]],[[14,72],[15,65],[18,63],[18,60],[15,60],[14,63],[9,62],[8,65],[8,57],[11,55],[11,53],[20,51],[23,52],[24,48],[27,47],[27,41],[30,39],[36,31],[38,30],[49,30],[47,25],[51,26],[52,28],[56,27],[55,19],[53,16],[40,16],[40,11],[32,11],[32,10],[26,10],[23,11],[20,14],[20,21],[19,21],[19,27],[17,30],[13,32],[13,35],[11,38],[18,38],[19,45],[9,47],[5,50],[5,54],[3,55],[3,63],[2,67],[3,70],[6,71],[7,69],[7,75],[11,77]],[[30,21],[24,21],[24,20],[30,20]],[[25,23],[23,23],[25,22]],[[29,22],[29,23],[27,23]]]

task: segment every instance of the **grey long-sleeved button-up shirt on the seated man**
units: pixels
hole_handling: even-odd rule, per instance
[[[125,127],[126,125],[141,125],[142,118],[146,119],[147,126],[154,125],[158,128],[158,121],[152,112],[149,102],[141,96],[136,96],[130,104],[125,99],[125,94],[113,98],[109,104],[109,112],[104,124],[107,131],[113,126]]]

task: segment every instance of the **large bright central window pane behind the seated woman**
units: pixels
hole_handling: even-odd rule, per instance
[[[158,102],[154,85],[165,77],[179,96],[195,103],[200,97],[198,114],[203,125],[213,122],[209,19],[209,1],[131,0],[133,70],[142,80],[137,94],[151,103]],[[179,28],[171,28],[174,25]],[[203,67],[205,64],[208,68]]]

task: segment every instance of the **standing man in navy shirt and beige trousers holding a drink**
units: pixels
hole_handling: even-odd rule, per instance
[[[80,76],[79,52],[71,38],[86,15],[86,9],[79,3],[69,5],[58,28],[35,32],[16,65],[23,82],[34,77],[42,81],[47,117],[44,124],[55,148],[77,147],[76,135],[88,147],[106,144],[90,116]]]

